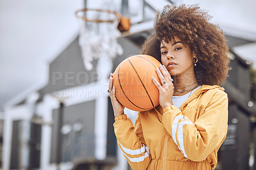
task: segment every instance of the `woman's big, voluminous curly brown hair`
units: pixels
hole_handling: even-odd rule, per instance
[[[160,44],[173,36],[188,45],[198,58],[195,76],[198,83],[223,85],[228,76],[228,46],[223,30],[209,22],[212,17],[198,4],[164,6],[154,20],[154,32],[143,43],[141,54],[155,57],[161,62]]]

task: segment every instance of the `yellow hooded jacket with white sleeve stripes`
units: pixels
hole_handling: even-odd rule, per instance
[[[133,126],[115,118],[115,134],[132,169],[214,169],[227,135],[228,98],[222,87],[202,85],[175,106],[138,112]]]

